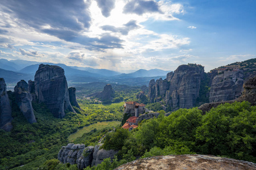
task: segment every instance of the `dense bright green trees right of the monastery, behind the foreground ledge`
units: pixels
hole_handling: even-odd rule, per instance
[[[256,162],[256,107],[249,103],[219,105],[204,116],[197,108],[179,109],[168,117],[143,121],[133,131],[108,133],[104,148],[119,150],[117,158],[98,167],[111,169],[148,156],[205,154]]]

